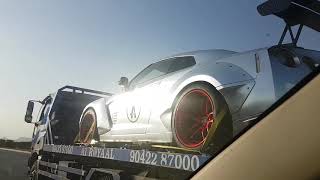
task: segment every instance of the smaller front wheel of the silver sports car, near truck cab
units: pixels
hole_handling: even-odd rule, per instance
[[[87,109],[83,114],[79,127],[79,142],[90,144],[97,136],[97,118],[93,109]]]

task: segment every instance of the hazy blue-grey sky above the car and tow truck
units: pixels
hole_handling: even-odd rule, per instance
[[[0,137],[30,137],[28,99],[64,85],[117,92],[120,76],[199,49],[245,51],[276,43],[279,18],[263,0],[0,1]],[[304,29],[302,44],[320,50]]]

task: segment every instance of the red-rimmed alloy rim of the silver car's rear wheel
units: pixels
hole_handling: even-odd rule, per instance
[[[208,92],[189,91],[180,99],[174,115],[177,140],[187,148],[202,146],[214,119],[214,103]]]

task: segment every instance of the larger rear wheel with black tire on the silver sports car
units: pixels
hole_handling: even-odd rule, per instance
[[[204,83],[182,90],[174,103],[171,122],[173,142],[184,149],[214,154],[233,137],[227,103],[214,87]]]

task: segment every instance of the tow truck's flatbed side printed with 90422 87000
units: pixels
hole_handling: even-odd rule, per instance
[[[159,174],[168,176],[170,173],[187,175],[198,169],[209,157],[196,152],[177,153],[161,148],[149,150],[45,144],[42,156],[38,159],[37,176],[95,179],[94,175],[98,173],[113,179],[123,174],[137,179],[159,178]],[[154,175],[155,172],[158,175]]]

